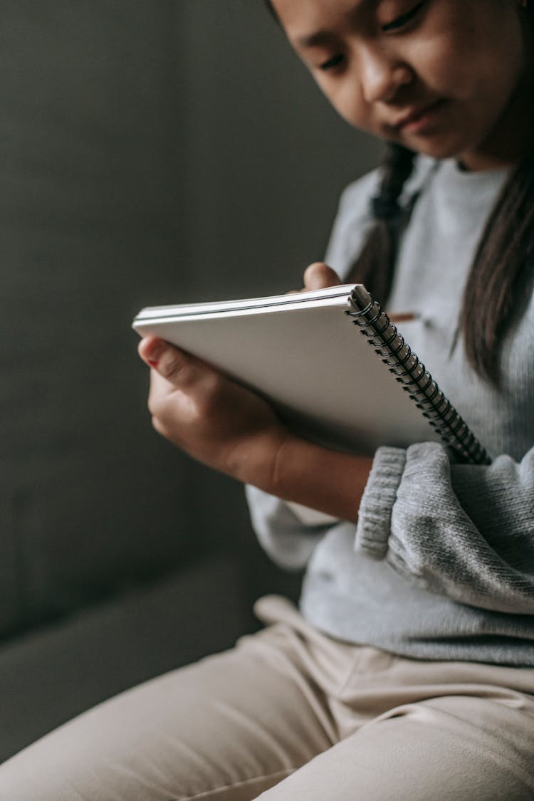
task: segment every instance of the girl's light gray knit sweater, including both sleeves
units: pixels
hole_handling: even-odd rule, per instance
[[[534,665],[534,298],[502,349],[502,388],[484,383],[456,341],[460,301],[485,219],[506,174],[419,159],[420,191],[388,310],[415,312],[408,343],[492,455],[452,463],[439,444],[376,454],[355,528],[306,526],[283,501],[247,488],[267,553],[306,567],[301,610],[349,642],[415,658]],[[327,261],[342,276],[359,252],[376,175],[343,193]],[[332,387],[335,392],[335,387]]]

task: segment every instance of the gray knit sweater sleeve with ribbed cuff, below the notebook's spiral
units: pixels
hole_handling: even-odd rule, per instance
[[[488,466],[452,464],[434,442],[380,448],[355,548],[425,590],[534,614],[534,448]]]

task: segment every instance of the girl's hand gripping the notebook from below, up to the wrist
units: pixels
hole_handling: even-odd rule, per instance
[[[139,355],[151,367],[156,431],[205,465],[269,483],[289,434],[265,400],[155,336],[141,340]]]

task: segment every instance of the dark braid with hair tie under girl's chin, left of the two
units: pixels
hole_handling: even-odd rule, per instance
[[[415,155],[406,147],[387,144],[378,195],[371,199],[375,224],[347,277],[351,283],[365,284],[380,304],[386,303],[391,292],[399,235],[406,223],[399,197],[412,175]]]

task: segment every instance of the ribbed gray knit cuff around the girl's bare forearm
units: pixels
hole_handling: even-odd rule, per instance
[[[379,561],[386,556],[391,509],[406,465],[406,451],[379,448],[359,505],[355,550]]]

